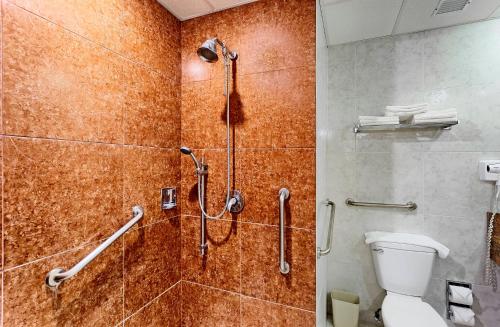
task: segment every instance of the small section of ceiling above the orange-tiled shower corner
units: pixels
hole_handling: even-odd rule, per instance
[[[179,20],[208,15],[257,0],[158,0]]]

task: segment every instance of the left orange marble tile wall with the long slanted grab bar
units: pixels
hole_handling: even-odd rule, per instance
[[[180,22],[156,0],[2,0],[1,27],[3,326],[179,325],[159,191],[180,187]],[[135,204],[139,226],[48,291]]]

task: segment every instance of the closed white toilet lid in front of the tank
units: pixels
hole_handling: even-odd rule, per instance
[[[386,327],[446,327],[443,318],[420,297],[389,293],[382,303]]]

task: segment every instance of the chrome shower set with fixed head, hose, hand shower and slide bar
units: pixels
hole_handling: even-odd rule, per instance
[[[227,180],[226,180],[226,201],[222,210],[214,215],[210,216],[206,212],[205,208],[205,178],[208,174],[208,165],[204,163],[204,158],[202,157],[201,162],[198,161],[193,151],[188,147],[181,147],[181,153],[189,155],[194,162],[196,171],[195,174],[198,178],[198,205],[201,211],[201,231],[200,231],[200,254],[203,256],[207,249],[206,240],[206,218],[208,219],[219,219],[226,212],[239,213],[243,210],[244,199],[238,190],[231,192],[231,144],[230,144],[230,94],[229,94],[229,84],[230,84],[230,73],[231,64],[233,61],[238,59],[238,54],[234,51],[229,50],[225,43],[218,38],[211,38],[203,42],[201,47],[198,48],[198,56],[201,60],[214,63],[219,60],[217,54],[217,45],[220,45],[222,56],[224,57],[224,95],[226,96],[226,145],[227,145]]]

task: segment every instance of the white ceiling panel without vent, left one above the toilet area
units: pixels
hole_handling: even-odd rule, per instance
[[[389,35],[403,0],[325,0],[328,43],[341,44]]]

